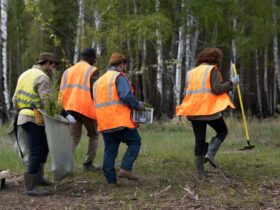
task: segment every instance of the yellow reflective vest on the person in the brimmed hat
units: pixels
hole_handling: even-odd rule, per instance
[[[42,75],[46,74],[39,69],[32,68],[19,77],[16,87],[16,103],[17,108],[22,109],[20,114],[34,116],[34,112],[30,109],[31,103],[37,108],[42,106],[39,94],[33,89],[35,80]]]

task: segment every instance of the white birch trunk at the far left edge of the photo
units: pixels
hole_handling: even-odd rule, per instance
[[[8,37],[8,0],[1,0],[1,39],[2,39],[2,66],[4,79],[4,98],[6,108],[10,109],[8,90],[8,66],[7,66],[7,37]]]

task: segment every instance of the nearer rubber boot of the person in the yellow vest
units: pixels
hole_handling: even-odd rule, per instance
[[[24,174],[24,185],[25,185],[25,194],[31,196],[44,196],[49,195],[50,192],[39,190],[36,188],[38,182],[38,173],[37,174]]]

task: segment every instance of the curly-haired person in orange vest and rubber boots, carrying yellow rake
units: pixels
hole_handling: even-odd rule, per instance
[[[195,135],[196,168],[203,177],[210,176],[204,169],[205,162],[218,167],[214,157],[228,134],[221,112],[226,108],[235,108],[228,92],[239,83],[239,75],[229,81],[222,80],[219,71],[222,57],[218,48],[206,48],[198,55],[197,67],[187,73],[186,96],[176,108],[177,115],[187,116],[191,121]],[[216,131],[209,147],[206,143],[207,125]]]

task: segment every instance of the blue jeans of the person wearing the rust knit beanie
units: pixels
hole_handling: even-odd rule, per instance
[[[112,133],[102,133],[104,138],[103,171],[108,183],[116,183],[115,160],[118,155],[120,143],[127,145],[127,150],[122,159],[121,168],[131,171],[141,147],[141,137],[137,129],[124,128]]]

